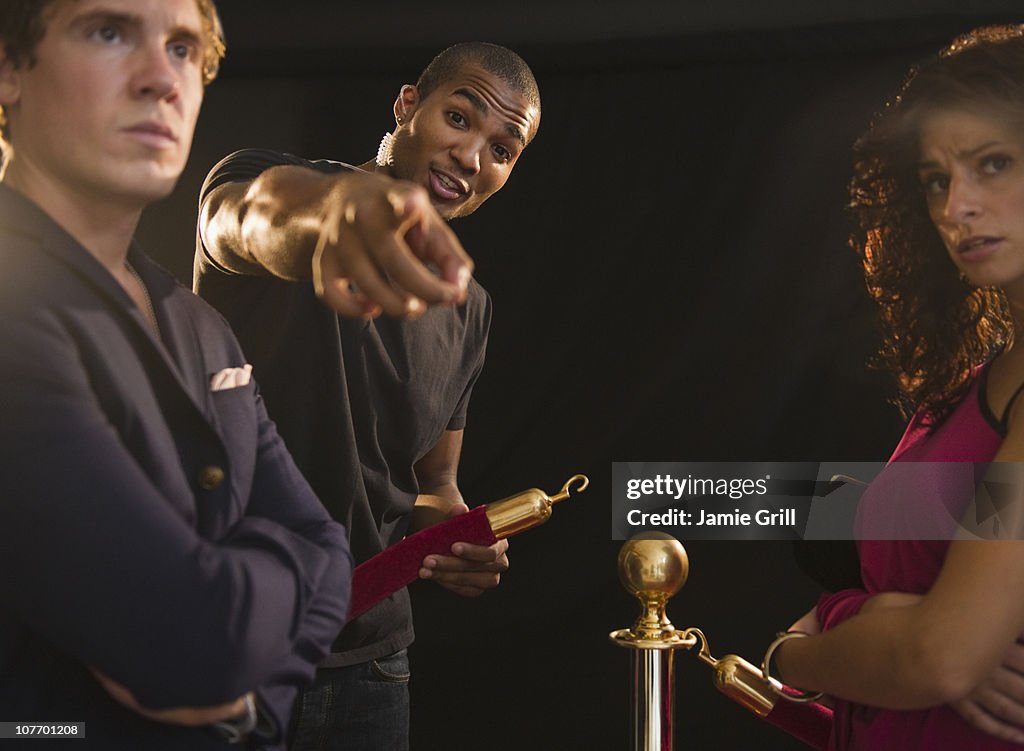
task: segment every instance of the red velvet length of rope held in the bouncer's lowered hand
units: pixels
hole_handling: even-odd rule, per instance
[[[498,542],[490,531],[485,506],[477,506],[468,513],[428,527],[357,566],[352,574],[352,608],[348,620],[354,621],[385,597],[414,582],[427,555],[451,555],[452,545],[457,542],[473,545]]]

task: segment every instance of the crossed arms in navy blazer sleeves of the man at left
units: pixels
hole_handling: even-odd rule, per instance
[[[350,558],[261,405],[256,490],[238,524],[207,539],[181,513],[190,495],[166,495],[174,460],[150,469],[163,486],[151,478],[146,449],[100,408],[97,389],[116,386],[90,379],[58,317],[32,317],[0,332],[0,562],[20,572],[0,582],[11,611],[140,707],[214,710],[163,721],[231,716],[240,697],[310,677],[343,623]]]

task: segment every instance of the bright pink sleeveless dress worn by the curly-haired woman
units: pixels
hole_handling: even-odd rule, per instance
[[[914,416],[903,439],[890,460],[892,462],[987,462],[1002,443],[1005,426],[992,417],[982,397],[984,373],[982,366],[976,373],[970,390],[954,411],[934,431],[922,425],[921,415]],[[900,468],[897,468],[900,469]],[[941,536],[949,519],[959,517],[965,498],[970,499],[973,478],[964,479],[964,470],[970,466],[950,465],[952,482],[941,477],[941,469],[922,466],[926,475],[922,482],[934,492],[916,493],[911,508],[904,514],[920,521],[919,514],[931,512],[937,519],[934,532]],[[901,514],[894,513],[894,504],[905,499],[901,492],[904,477],[895,483],[885,478],[883,472],[865,491],[858,510],[861,531],[869,534],[873,524],[884,519],[885,525],[898,524]],[[940,476],[936,476],[936,474]],[[968,482],[965,496],[964,482]],[[893,486],[896,486],[895,488]],[[931,503],[931,509],[922,507]],[[957,504],[959,507],[957,507]],[[918,525],[915,530],[920,530]],[[864,590],[844,590],[823,595],[818,603],[818,618],[823,629],[855,615],[863,601],[872,594],[886,591],[924,594],[939,575],[942,561],[949,547],[948,540],[866,540],[858,542],[860,571]],[[955,645],[951,645],[955,649]],[[867,707],[849,702],[838,702],[835,713],[830,749],[1015,749],[1019,745],[999,741],[971,727],[958,714],[946,706],[925,710],[890,710]]]

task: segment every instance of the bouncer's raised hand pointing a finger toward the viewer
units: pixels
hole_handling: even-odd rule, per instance
[[[348,173],[324,205],[312,279],[330,307],[416,318],[427,304],[465,300],[473,262],[422,187]]]

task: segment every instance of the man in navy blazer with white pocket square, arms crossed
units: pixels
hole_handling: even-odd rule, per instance
[[[4,4],[5,732],[280,748],[344,621],[344,528],[227,326],[132,240],[184,166],[222,50],[210,0]]]

